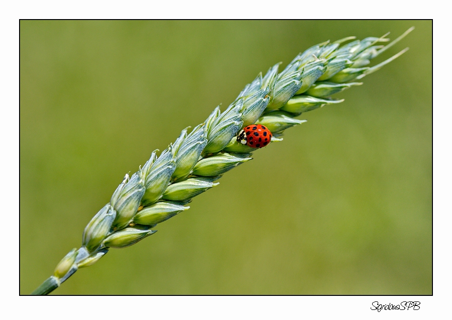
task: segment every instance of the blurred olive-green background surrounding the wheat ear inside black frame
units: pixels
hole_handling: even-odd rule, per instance
[[[431,21],[21,21],[20,293],[127,172],[260,71],[346,36],[410,50],[56,294],[431,294]],[[250,200],[250,181],[266,193]]]

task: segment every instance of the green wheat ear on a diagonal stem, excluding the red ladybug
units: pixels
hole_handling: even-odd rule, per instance
[[[82,246],[72,249],[57,265],[54,274],[32,294],[48,294],[79,268],[99,260],[110,248],[125,248],[154,234],[150,230],[170,219],[191,199],[218,185],[221,175],[251,160],[257,149],[236,141],[237,133],[250,124],[262,124],[282,141],[283,131],[304,120],[295,117],[325,104],[343,102],[334,93],[353,86],[366,75],[391,62],[408,48],[384,62],[368,67],[370,60],[399,42],[414,27],[386,46],[380,38],[355,40],[348,37],[315,45],[300,53],[278,73],[280,63],[271,67],[240,92],[229,107],[217,106],[204,123],[190,133],[188,128],[159,157],[151,158],[124,180],[110,202],[91,219],[82,236]],[[353,41],[352,41],[353,40]]]

